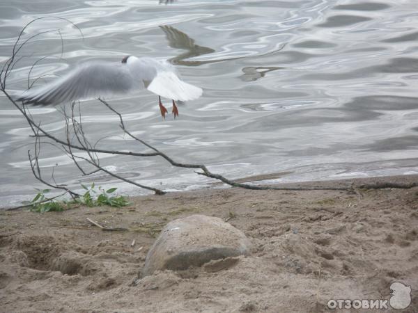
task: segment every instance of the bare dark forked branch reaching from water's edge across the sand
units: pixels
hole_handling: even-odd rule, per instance
[[[62,19],[60,17],[40,17],[38,19],[44,19],[44,18]],[[24,46],[33,38],[36,38],[38,35],[41,35],[42,33],[45,33],[45,31],[43,31],[36,35],[30,36],[26,40],[22,39],[22,35],[24,34],[24,31],[26,30],[26,28],[33,22],[36,22],[38,19],[34,19],[33,21],[26,24],[26,26],[24,26],[24,28],[18,35],[15,45],[13,46],[12,56],[10,56],[10,58],[4,63],[3,68],[0,72],[0,90],[3,92],[4,95],[6,95],[10,103],[13,104],[15,108],[20,111],[20,113],[22,113],[24,118],[26,118],[26,122],[28,123],[29,127],[31,127],[31,131],[32,131],[31,136],[33,136],[34,138],[34,154],[32,154],[31,151],[29,150],[28,156],[29,156],[29,162],[31,165],[31,170],[33,172],[33,175],[36,177],[36,179],[38,179],[43,184],[47,184],[47,186],[50,186],[53,188],[62,189],[63,191],[65,191],[65,193],[70,194],[72,198],[77,198],[77,196],[79,195],[75,193],[75,191],[71,191],[66,186],[63,186],[63,184],[56,183],[53,176],[52,176],[52,182],[49,182],[42,177],[42,172],[40,170],[40,166],[38,163],[38,158],[40,155],[40,149],[42,145],[51,144],[51,145],[54,145],[55,147],[58,147],[61,151],[63,151],[63,153],[65,153],[72,160],[72,162],[74,163],[77,170],[79,170],[81,175],[88,176],[94,172],[105,172],[108,175],[111,175],[112,177],[115,177],[118,180],[121,180],[128,184],[132,184],[139,188],[148,189],[150,191],[153,191],[157,195],[163,195],[165,192],[159,188],[154,188],[152,186],[139,184],[137,182],[134,182],[132,179],[127,179],[125,177],[122,177],[121,175],[118,175],[117,173],[112,172],[111,170],[108,170],[107,168],[100,166],[100,158],[98,157],[98,154],[123,155],[123,156],[137,157],[137,158],[162,157],[171,166],[175,166],[178,168],[194,169],[196,170],[195,172],[197,175],[203,175],[212,179],[217,179],[230,186],[254,189],[254,190],[282,190],[282,191],[336,190],[336,191],[356,192],[357,188],[369,188],[369,189],[370,188],[412,188],[414,186],[417,186],[417,183],[394,184],[391,182],[383,182],[383,183],[380,182],[378,184],[349,186],[349,187],[347,186],[309,186],[309,187],[292,186],[292,187],[288,187],[288,186],[261,186],[261,185],[254,185],[254,184],[244,184],[241,182],[228,179],[224,177],[223,175],[210,172],[210,170],[208,170],[208,168],[203,164],[180,163],[178,161],[175,161],[174,159],[172,159],[167,154],[157,149],[153,145],[146,143],[146,141],[142,140],[138,136],[134,136],[127,129],[127,127],[125,127],[125,123],[123,121],[123,115],[119,113],[118,111],[116,111],[116,109],[114,109],[114,107],[112,107],[111,104],[109,104],[109,102],[106,102],[104,99],[100,99],[100,98],[98,98],[98,101],[104,106],[106,106],[107,109],[109,109],[112,113],[118,116],[118,119],[120,120],[119,126],[121,127],[122,131],[127,136],[134,139],[134,141],[136,141],[139,145],[148,148],[149,150],[148,152],[133,152],[133,151],[111,150],[107,148],[98,148],[98,143],[100,142],[100,140],[92,144],[90,141],[88,141],[86,132],[83,129],[81,108],[79,106],[79,103],[76,103],[76,102],[73,102],[71,104],[70,114],[66,113],[65,110],[62,112],[63,122],[65,123],[65,134],[63,134],[62,137],[55,136],[50,131],[47,131],[45,128],[43,128],[40,122],[37,123],[35,122],[35,120],[33,120],[29,106],[24,105],[23,102],[18,103],[15,99],[13,99],[13,97],[6,90],[6,83],[7,83],[8,77],[13,72],[15,65],[20,60],[22,60],[22,58],[24,58],[24,56],[20,56],[20,52],[22,51]],[[81,30],[75,24],[68,21],[68,19],[62,19],[62,20],[65,20],[69,22],[70,24],[72,24],[72,26],[75,26],[81,33]],[[59,30],[50,30],[50,31],[58,32],[61,38],[61,43],[63,42],[63,38]],[[38,61],[36,63],[38,63]],[[35,66],[36,63],[33,66]],[[31,71],[29,71],[29,75],[30,74],[31,74]],[[28,77],[28,80],[29,80],[29,77]],[[29,83],[28,83],[28,86],[29,88],[31,88],[31,85],[29,85]],[[77,152],[85,152],[86,157],[81,157],[79,154],[76,154]],[[86,164],[88,165],[88,170],[85,168]]]

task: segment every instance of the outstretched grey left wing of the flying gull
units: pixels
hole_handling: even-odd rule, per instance
[[[125,93],[133,84],[132,75],[125,64],[90,62],[79,65],[45,86],[26,90],[18,100],[25,104],[60,104]]]

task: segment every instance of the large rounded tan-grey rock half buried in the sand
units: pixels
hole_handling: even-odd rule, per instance
[[[251,243],[240,230],[220,218],[192,215],[172,220],[146,256],[142,275],[202,266],[214,259],[248,255]]]

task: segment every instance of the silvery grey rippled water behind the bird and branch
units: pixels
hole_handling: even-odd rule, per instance
[[[84,39],[54,19],[33,24],[26,38],[60,29],[62,59],[57,33],[37,38],[10,77],[11,92],[27,86],[31,64],[45,55],[55,58],[40,62],[33,79],[61,75],[89,58],[167,58],[204,90],[201,99],[179,108],[178,120],[162,120],[155,96],[146,92],[111,102],[134,134],[178,161],[205,163],[231,178],[286,171],[278,179],[283,182],[405,174],[418,172],[417,12],[412,0],[6,0],[0,3],[0,61],[24,24],[65,17]],[[5,97],[0,104],[0,197],[15,201],[38,186],[26,157],[30,129]],[[102,145],[141,151],[98,102],[84,102],[82,110],[92,141],[107,136]],[[58,111],[32,113],[46,129],[62,133]],[[41,158],[46,177],[54,168],[59,182],[115,185],[108,175],[79,177],[51,147]],[[208,182],[160,159],[105,156],[102,165],[166,189]]]

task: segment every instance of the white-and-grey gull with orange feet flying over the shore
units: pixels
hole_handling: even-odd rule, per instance
[[[189,101],[201,96],[202,90],[182,81],[173,65],[154,58],[125,56],[121,63],[90,61],[77,66],[63,77],[45,86],[30,88],[17,99],[23,104],[60,104],[82,99],[107,97],[146,88],[158,95],[161,115],[168,113],[161,97],[171,99],[172,113],[178,116],[176,101]]]

